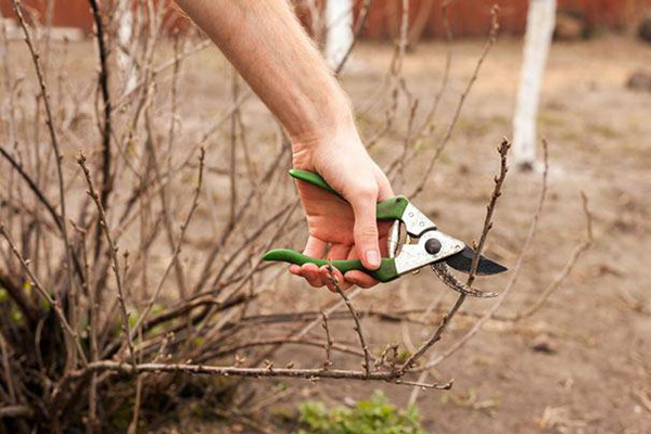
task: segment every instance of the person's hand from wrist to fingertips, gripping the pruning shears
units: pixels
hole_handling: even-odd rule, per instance
[[[307,182],[296,182],[309,232],[303,253],[332,260],[361,259],[365,268],[378,269],[381,257],[386,256],[391,222],[375,220],[375,206],[394,193],[363,148],[357,129],[350,126],[335,133],[294,139],[292,150],[294,168],[318,173],[347,201]],[[327,285],[335,290],[328,266],[292,265],[290,271],[315,288]],[[362,271],[342,276],[334,269],[333,273],[343,290],[352,284],[371,288],[378,283]]]

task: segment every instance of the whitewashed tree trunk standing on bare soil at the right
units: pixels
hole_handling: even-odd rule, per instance
[[[513,157],[519,167],[536,164],[536,120],[540,87],[553,36],[557,0],[529,0],[520,88],[513,116]]]

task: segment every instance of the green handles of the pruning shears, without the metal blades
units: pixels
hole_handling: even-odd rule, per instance
[[[308,170],[290,170],[290,176],[301,181],[309,182],[312,186],[320,187],[323,190],[327,190],[333,194],[339,195],[343,199],[343,196],[335,191],[332,187],[326,182],[323,178],[321,178],[318,174]],[[388,199],[386,201],[382,201],[378,203],[376,207],[376,216],[378,220],[401,220],[403,214],[405,214],[405,209],[409,205],[409,200],[405,196],[395,196]],[[278,260],[284,263],[296,264],[298,266],[303,264],[315,264],[318,267],[332,264],[334,268],[340,270],[342,273],[347,271],[363,271],[367,275],[371,276],[373,279],[379,280],[380,282],[390,282],[399,277],[396,270],[396,263],[394,258],[382,258],[380,268],[376,270],[369,270],[361,265],[361,260],[326,260],[326,259],[316,259],[309,256],[305,256],[302,253],[296,251],[288,250],[288,248],[275,248],[272,251],[267,252],[263,256],[264,260]]]

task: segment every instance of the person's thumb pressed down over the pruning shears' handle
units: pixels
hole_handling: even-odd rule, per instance
[[[375,206],[378,205],[378,190],[361,190],[350,200],[355,213],[355,247],[365,268],[375,270],[380,268],[380,244],[378,242],[378,221]]]

